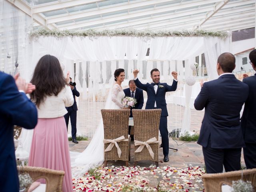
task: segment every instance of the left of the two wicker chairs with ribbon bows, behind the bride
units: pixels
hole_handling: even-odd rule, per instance
[[[128,124],[130,109],[102,109],[102,120],[104,126],[104,166],[107,166],[110,160],[122,160],[126,162],[130,160],[130,143],[131,138],[128,137]],[[114,145],[111,150],[106,151],[110,146],[110,140],[114,140],[123,136],[123,140],[118,141],[117,144],[121,150],[120,157],[118,156],[118,149]],[[107,142],[108,141],[108,142]]]

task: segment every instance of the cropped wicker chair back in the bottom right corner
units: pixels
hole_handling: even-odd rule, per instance
[[[232,181],[243,179],[244,181],[251,181],[254,190],[256,189],[256,168],[230,171],[226,173],[213,173],[202,175],[204,181],[205,192],[221,192],[222,185],[227,184],[232,186]]]

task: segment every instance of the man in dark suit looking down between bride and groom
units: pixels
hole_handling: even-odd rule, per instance
[[[124,89],[124,94],[127,97],[136,99],[135,107],[131,108],[130,117],[132,117],[132,109],[142,109],[144,104],[143,91],[136,87],[134,80],[129,81],[129,88]],[[129,126],[128,134],[130,135],[131,126]]]

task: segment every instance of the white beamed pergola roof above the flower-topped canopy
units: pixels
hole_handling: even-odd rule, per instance
[[[134,28],[136,30],[237,30],[255,27],[255,0],[191,0],[175,4],[156,6],[174,0],[137,0],[111,6],[99,7],[102,0],[58,0],[58,2],[28,6],[25,0],[7,0],[20,10],[31,16],[36,22],[34,26],[45,26],[49,29],[78,30],[81,28]],[[97,8],[68,13],[66,8],[96,3]],[[129,9],[144,6],[154,8],[129,12]],[[197,8],[195,8],[197,7]],[[66,10],[66,14],[46,17],[44,12]],[[182,10],[180,10],[182,9]],[[113,14],[102,17],[102,14],[128,10],[126,14]],[[172,12],[171,12],[172,11]],[[165,12],[170,12],[164,14]],[[157,14],[157,15],[154,15]],[[99,18],[76,22],[76,19],[100,15]],[[144,16],[144,17],[143,17]],[[142,17],[140,19],[134,19]],[[71,23],[58,25],[58,22],[70,20]],[[120,21],[120,22],[118,22]]]

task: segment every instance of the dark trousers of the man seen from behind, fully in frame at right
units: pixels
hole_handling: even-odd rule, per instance
[[[226,172],[240,170],[241,150],[242,148],[211,148],[209,139],[207,147],[203,147],[206,173],[222,173],[223,165]]]

